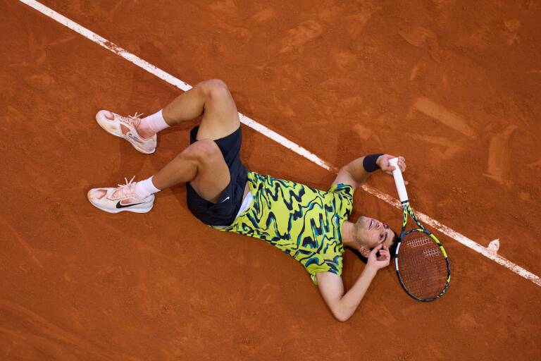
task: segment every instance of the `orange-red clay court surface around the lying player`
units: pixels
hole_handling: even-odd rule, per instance
[[[541,274],[540,1],[43,4],[192,85],[225,80],[242,113],[335,166],[404,155],[416,209]],[[340,323],[294,259],[204,226],[183,186],[148,214],[95,209],[89,188],[155,173],[195,123],[145,156],[96,111],[151,114],[180,91],[19,1],[0,1],[0,33],[1,360],[541,359],[540,286],[450,238],[442,299],[411,300],[388,268]],[[243,131],[250,169],[332,182]],[[355,204],[399,226],[366,192]],[[348,251],[347,287],[362,268]]]

